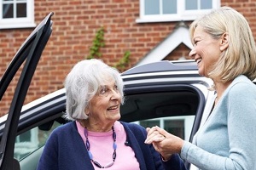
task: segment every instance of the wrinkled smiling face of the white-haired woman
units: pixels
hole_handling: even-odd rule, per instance
[[[90,100],[90,121],[94,123],[115,122],[120,118],[121,95],[113,77],[101,85]],[[87,112],[87,111],[85,111]]]

